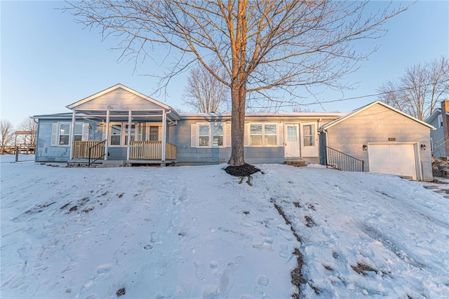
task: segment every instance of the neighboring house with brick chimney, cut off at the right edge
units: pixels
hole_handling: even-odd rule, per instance
[[[431,152],[434,158],[447,157],[448,154],[446,153],[449,153],[449,112],[445,107],[449,107],[449,100],[443,100],[441,108],[436,108],[426,119],[427,124],[431,124],[431,126],[436,128],[430,133]]]

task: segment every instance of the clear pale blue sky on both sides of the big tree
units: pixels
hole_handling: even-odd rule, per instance
[[[117,83],[152,95],[157,80],[139,74],[159,72],[160,67],[147,60],[133,74],[135,63],[118,62],[120,52],[110,50],[118,41],[102,41],[98,31],[83,29],[72,15],[55,9],[63,5],[61,1],[0,1],[1,119],[18,125],[28,116],[69,112],[66,105]],[[380,5],[387,2],[374,6]],[[327,91],[320,95],[321,100],[374,94],[380,84],[401,76],[406,67],[449,56],[449,1],[417,2],[384,27],[389,32],[382,39],[357,45],[378,45],[380,49],[361,62],[357,72],[347,76],[347,81],[360,82],[356,88],[344,91],[344,95]],[[186,110],[181,100],[186,77],[173,80],[168,95],[152,97]],[[377,98],[330,102],[307,109],[347,112],[374,100]]]

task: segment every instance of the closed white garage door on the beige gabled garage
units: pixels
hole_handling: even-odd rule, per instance
[[[416,180],[415,145],[368,144],[370,171],[410,176]]]

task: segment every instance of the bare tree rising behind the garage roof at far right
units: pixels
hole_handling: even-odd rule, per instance
[[[386,81],[377,91],[380,99],[413,117],[425,120],[440,100],[449,95],[449,62],[439,59],[407,67],[397,81]]]

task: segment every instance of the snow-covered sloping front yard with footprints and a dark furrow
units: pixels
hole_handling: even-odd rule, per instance
[[[299,255],[301,298],[449,294],[449,199],[430,183],[0,159],[1,298],[291,298]]]

